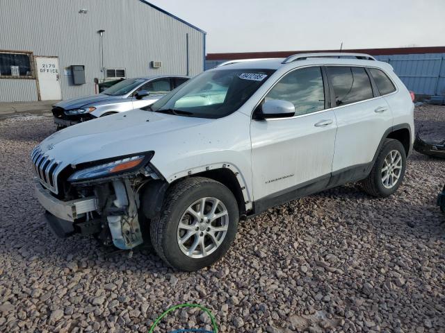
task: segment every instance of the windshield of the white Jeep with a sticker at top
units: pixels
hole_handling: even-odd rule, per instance
[[[204,71],[151,106],[155,112],[220,118],[238,110],[273,74],[273,69]]]

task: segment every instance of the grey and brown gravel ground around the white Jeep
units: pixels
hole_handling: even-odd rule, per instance
[[[438,135],[445,107],[415,117]],[[268,210],[216,265],[181,273],[144,248],[129,258],[47,230],[29,152],[53,131],[50,117],[0,121],[1,332],[147,332],[181,302],[209,307],[221,332],[445,332],[444,160],[414,153],[387,199],[347,185]],[[209,324],[168,318],[158,332]]]

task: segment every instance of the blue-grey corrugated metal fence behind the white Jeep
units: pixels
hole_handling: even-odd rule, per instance
[[[399,78],[415,94],[445,96],[445,53],[375,56],[389,62]],[[206,60],[206,69],[226,60]]]

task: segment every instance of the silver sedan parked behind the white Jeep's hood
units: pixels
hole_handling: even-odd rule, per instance
[[[58,129],[110,114],[143,108],[179,87],[187,76],[128,78],[92,96],[56,103],[52,112]]]

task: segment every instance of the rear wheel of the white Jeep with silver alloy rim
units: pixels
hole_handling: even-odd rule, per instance
[[[405,148],[396,139],[386,139],[362,187],[371,196],[386,197],[397,191],[406,167]]]

